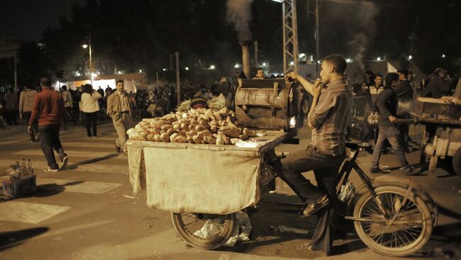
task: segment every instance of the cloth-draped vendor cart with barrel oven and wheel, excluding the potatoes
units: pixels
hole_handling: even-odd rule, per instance
[[[177,233],[192,246],[214,249],[226,243],[235,213],[257,204],[269,185],[273,189],[274,174],[263,170],[267,154],[299,127],[290,85],[284,79],[240,79],[235,117],[255,133],[250,140],[235,145],[128,141],[134,193],[146,188],[147,205],[172,212]]]

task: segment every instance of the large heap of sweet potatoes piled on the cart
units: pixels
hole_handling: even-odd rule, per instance
[[[235,113],[227,108],[219,111],[198,108],[161,118],[145,118],[127,134],[130,140],[209,145],[235,145],[255,137],[255,132],[239,126]]]

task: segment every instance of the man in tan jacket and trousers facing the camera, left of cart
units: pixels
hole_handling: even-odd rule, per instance
[[[118,138],[115,141],[116,152],[123,152],[127,135],[126,130],[131,123],[131,113],[133,108],[130,98],[125,91],[123,80],[116,82],[116,91],[107,98],[107,113],[112,118],[113,127],[115,128]]]

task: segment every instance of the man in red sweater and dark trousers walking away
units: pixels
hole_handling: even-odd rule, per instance
[[[67,129],[64,101],[62,96],[51,88],[51,79],[44,76],[40,79],[42,91],[33,99],[32,114],[28,123],[28,132],[38,122],[38,132],[43,154],[48,162],[47,172],[59,171],[67,166],[67,154],[60,141],[60,126]],[[59,154],[60,164],[56,163],[55,152]]]

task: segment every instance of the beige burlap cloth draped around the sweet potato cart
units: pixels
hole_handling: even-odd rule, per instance
[[[147,188],[147,205],[173,213],[225,215],[260,199],[265,152],[285,134],[255,137],[257,147],[128,141],[133,193]]]

